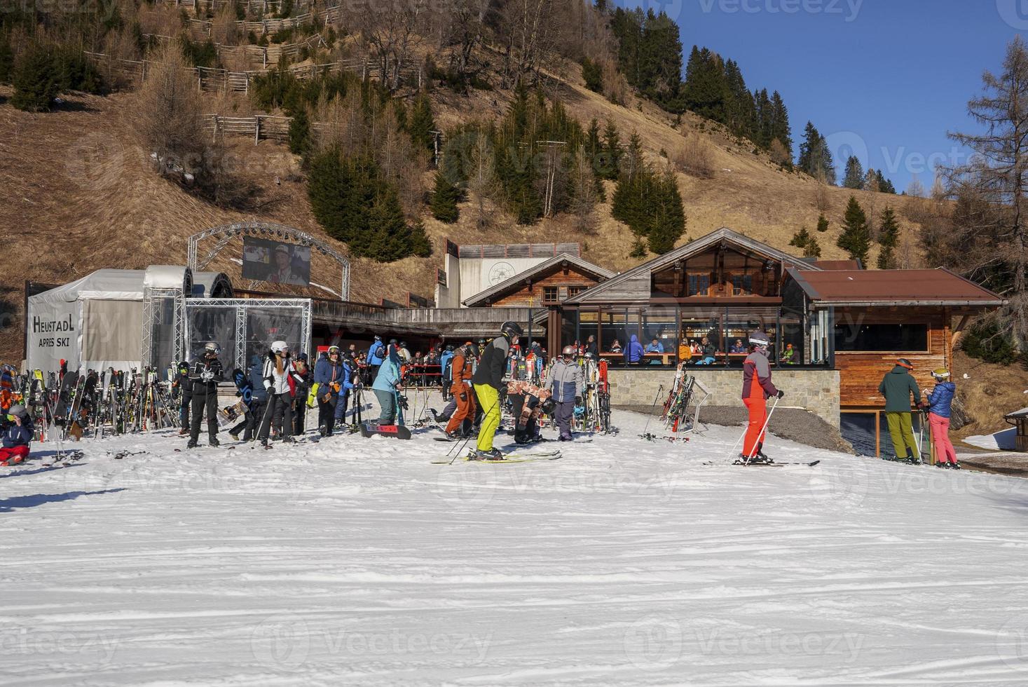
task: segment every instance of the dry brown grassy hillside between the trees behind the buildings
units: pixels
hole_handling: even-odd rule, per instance
[[[844,258],[836,240],[845,204],[855,194],[869,215],[886,205],[897,210],[903,230],[897,250],[901,264],[920,265],[918,227],[909,217],[917,216],[917,205],[927,201],[819,186],[808,177],[781,171],[765,154],[755,154],[751,145],[740,144],[692,114],[675,125],[671,116],[649,103],[614,105],[586,89],[574,65],[552,77],[547,85],[550,97],[559,98],[584,124],[593,117],[600,122],[612,120],[623,140],[636,132],[654,162],[663,164],[665,154],[675,160],[687,139],[689,145],[707,151],[709,176],[677,173],[688,218],[683,242],[729,226],[799,254],[799,249],[788,246],[790,240],[801,226],[813,231],[823,212],[831,229],[814,232],[822,257]],[[510,94],[473,91],[460,96],[436,89],[432,98],[437,123],[445,129],[473,117],[501,115]],[[211,107],[222,113],[229,108],[250,109],[240,98],[212,99]],[[151,169],[136,143],[133,115],[132,94],[125,93],[106,98],[73,96],[59,111],[47,114],[21,112],[0,103],[0,222],[9,228],[5,231],[7,260],[0,275],[0,289],[6,295],[0,298],[7,302],[7,311],[14,311],[0,340],[0,360],[21,358],[21,289],[27,279],[64,283],[100,267],[182,264],[189,234],[246,218],[289,224],[332,242],[314,220],[298,159],[284,145],[261,141],[255,146],[246,138],[231,142],[235,167],[254,193],[244,211],[226,210],[161,179]],[[431,176],[426,171],[426,188],[431,188]],[[610,197],[613,184],[608,183]],[[611,218],[609,203],[599,207],[595,226],[587,232],[576,231],[565,216],[520,226],[499,210],[493,213],[493,224],[482,230],[474,226],[470,214],[463,212],[456,224],[445,225],[426,212],[425,224],[435,246],[432,257],[390,264],[355,261],[352,298],[399,300],[407,290],[431,297],[446,238],[457,243],[579,241],[586,259],[611,269],[623,270],[639,262],[628,256],[634,237]],[[345,250],[342,245],[339,248]],[[873,249],[872,261],[875,255]],[[229,259],[234,256],[226,251],[212,267],[242,283],[238,265]],[[327,262],[316,259],[313,276],[316,282],[337,284],[337,274]]]

